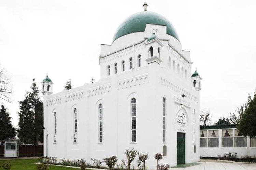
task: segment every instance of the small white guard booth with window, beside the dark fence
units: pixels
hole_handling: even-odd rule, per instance
[[[5,140],[4,157],[19,157],[19,141],[17,139]]]

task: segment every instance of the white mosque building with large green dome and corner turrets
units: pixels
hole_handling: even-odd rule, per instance
[[[42,81],[44,156],[121,162],[134,148],[149,154],[149,169],[156,153],[171,166],[199,160],[202,78],[191,77],[190,51],[173,25],[143,6],[101,45],[98,82],[53,94],[51,79]]]

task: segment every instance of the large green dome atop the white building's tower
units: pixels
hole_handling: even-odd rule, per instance
[[[179,40],[175,28],[165,17],[155,12],[143,11],[131,15],[117,28],[113,42],[126,34],[144,32],[147,24],[167,26],[166,33]]]

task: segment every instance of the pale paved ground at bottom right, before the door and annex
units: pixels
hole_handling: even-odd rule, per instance
[[[229,162],[198,162],[199,165],[186,168],[170,168],[171,170],[256,170],[256,164],[240,164]]]

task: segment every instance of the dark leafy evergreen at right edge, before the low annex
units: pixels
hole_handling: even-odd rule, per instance
[[[253,99],[248,96],[247,108],[237,126],[239,134],[249,137],[256,136],[256,91]]]

